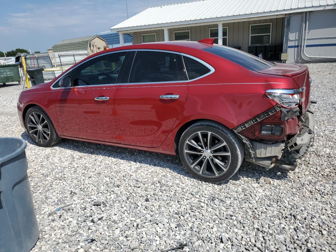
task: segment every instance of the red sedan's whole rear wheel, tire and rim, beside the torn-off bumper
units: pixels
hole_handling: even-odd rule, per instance
[[[183,165],[195,177],[220,182],[237,172],[244,158],[244,146],[225,126],[199,121],[183,132],[179,155]]]

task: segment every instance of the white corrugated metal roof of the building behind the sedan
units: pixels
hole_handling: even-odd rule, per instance
[[[268,15],[284,14],[283,10],[334,5],[336,0],[200,0],[186,3],[150,7],[111,29],[170,24],[268,12]],[[234,17],[238,18],[238,17]]]

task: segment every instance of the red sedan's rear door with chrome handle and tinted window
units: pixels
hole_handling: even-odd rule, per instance
[[[115,96],[120,142],[158,147],[187,97],[181,54],[155,50],[137,50],[134,54],[128,66],[130,75]]]

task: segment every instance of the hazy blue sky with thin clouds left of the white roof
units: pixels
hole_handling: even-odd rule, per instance
[[[128,17],[185,0],[127,0]],[[108,31],[127,19],[126,0],[0,0],[0,51],[46,52],[63,39]]]

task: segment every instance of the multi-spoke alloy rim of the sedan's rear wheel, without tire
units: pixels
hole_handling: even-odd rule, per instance
[[[188,137],[184,144],[184,155],[190,167],[206,177],[223,175],[231,161],[231,153],[224,139],[210,131],[197,131]]]

